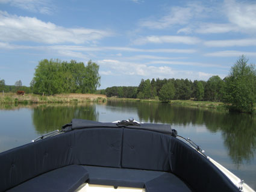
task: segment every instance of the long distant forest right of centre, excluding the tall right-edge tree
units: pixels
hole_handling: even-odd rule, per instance
[[[107,97],[154,99],[195,99],[197,101],[222,101],[224,82],[219,76],[212,76],[208,81],[189,79],[142,79],[138,87],[108,87]]]

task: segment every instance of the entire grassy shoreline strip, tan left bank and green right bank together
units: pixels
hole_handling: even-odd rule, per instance
[[[107,98],[105,94],[56,94],[54,96],[41,96],[39,94],[17,95],[16,93],[0,94],[0,104],[54,104],[54,103],[83,103],[83,102],[107,102],[107,101],[128,101],[128,102],[156,102],[158,99],[133,99],[133,98]],[[209,108],[214,110],[226,111],[225,104],[222,102],[191,101],[191,100],[171,100],[170,105],[183,107]]]

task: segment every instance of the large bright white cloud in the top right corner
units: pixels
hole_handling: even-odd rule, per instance
[[[217,8],[219,6],[219,9]],[[255,34],[256,31],[256,3],[255,1],[225,0],[207,13],[208,17],[220,19],[216,23],[193,20],[187,22],[177,33],[191,34],[220,34],[245,33]],[[203,10],[202,10],[203,11]],[[219,17],[219,18],[218,18]],[[193,17],[192,17],[193,18]],[[192,20],[192,18],[190,20]]]

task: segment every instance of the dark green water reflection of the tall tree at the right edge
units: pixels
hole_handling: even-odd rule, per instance
[[[207,116],[208,117],[208,116]],[[211,114],[205,118],[210,131],[222,131],[225,146],[234,163],[243,163],[254,158],[256,149],[256,118],[249,114],[225,113]]]

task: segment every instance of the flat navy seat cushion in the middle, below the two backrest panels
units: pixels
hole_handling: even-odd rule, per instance
[[[151,181],[166,172],[110,167],[84,166],[89,172],[89,184],[111,185],[116,187],[144,188]]]

